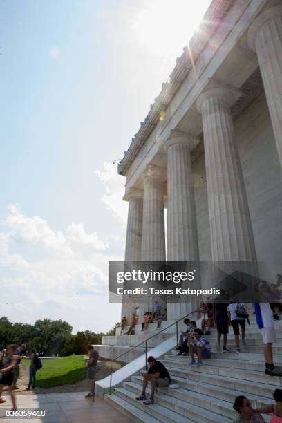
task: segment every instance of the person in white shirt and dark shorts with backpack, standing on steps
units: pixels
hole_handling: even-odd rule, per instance
[[[227,308],[227,314],[229,320],[231,321],[233,332],[234,332],[234,339],[236,344],[236,353],[241,353],[240,344],[239,344],[239,335],[241,327],[241,335],[242,335],[242,344],[245,345],[245,333],[246,333],[246,321],[249,315],[247,314],[244,304],[235,301],[234,303],[229,304]]]

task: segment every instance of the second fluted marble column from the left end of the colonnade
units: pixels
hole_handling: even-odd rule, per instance
[[[164,169],[154,165],[147,165],[144,180],[144,205],[142,224],[142,261],[165,261],[165,234],[164,234]],[[167,308],[164,299],[158,299],[160,306]],[[143,312],[153,312],[152,297],[140,303],[140,317]]]

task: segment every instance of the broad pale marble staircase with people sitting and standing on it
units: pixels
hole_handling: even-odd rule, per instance
[[[232,422],[237,417],[232,408],[237,395],[249,397],[253,408],[272,404],[272,393],[275,388],[282,388],[282,377],[265,375],[262,340],[252,306],[249,311],[251,325],[247,325],[246,345],[241,345],[241,353],[236,354],[232,328],[227,344],[231,352],[216,350],[216,329],[212,328],[211,335],[207,335],[212,344],[212,358],[203,360],[203,366],[189,366],[189,357],[176,356],[177,350],[159,358],[169,370],[172,383],[179,388],[158,388],[155,404],[145,406],[135,400],[142,390],[141,370],[122,382],[122,386],[115,387],[112,395],[105,395],[105,400],[132,421],[143,423]],[[274,324],[277,338],[274,362],[282,370],[282,320]],[[263,417],[266,422],[270,420],[268,415]]]

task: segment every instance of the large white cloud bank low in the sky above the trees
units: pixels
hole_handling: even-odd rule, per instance
[[[33,320],[68,319],[77,330],[75,314],[80,313],[80,330],[106,329],[102,327],[106,323],[99,319],[95,328],[93,322],[88,326],[85,305],[89,310],[91,303],[96,303],[99,312],[109,307],[108,261],[122,260],[122,254],[111,254],[111,243],[117,242],[115,237],[102,241],[96,232],[86,232],[82,223],[71,223],[65,231],[55,232],[46,220],[26,216],[15,205],[8,207],[1,227],[3,314],[12,320],[15,313],[27,311]],[[113,323],[109,320],[106,319],[110,328]]]

